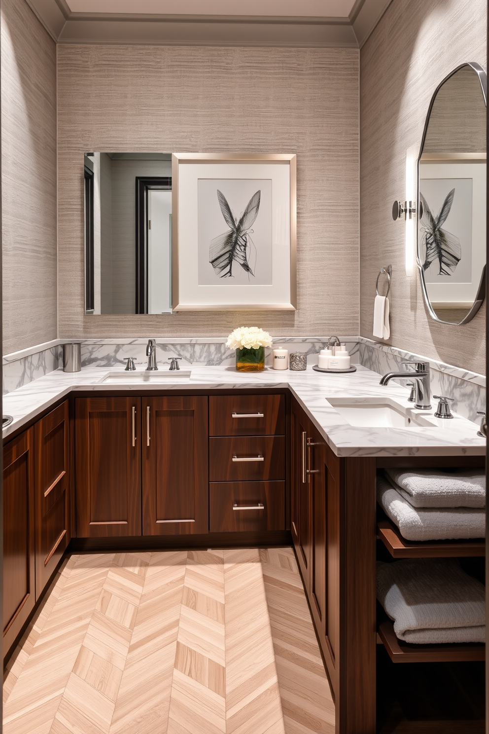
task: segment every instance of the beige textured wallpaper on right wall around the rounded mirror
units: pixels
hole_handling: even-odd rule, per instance
[[[485,374],[485,308],[466,326],[437,324],[418,277],[404,272],[405,151],[419,148],[435,87],[457,65],[486,67],[485,0],[396,0],[361,50],[361,335],[372,338],[375,278],[392,265],[387,344]]]

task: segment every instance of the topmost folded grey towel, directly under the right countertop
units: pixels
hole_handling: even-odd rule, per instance
[[[485,474],[479,469],[386,469],[386,474],[414,507],[485,507]]]

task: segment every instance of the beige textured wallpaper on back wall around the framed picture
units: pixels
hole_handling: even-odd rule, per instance
[[[359,51],[59,46],[59,335],[359,331]],[[84,316],[84,150],[298,156],[298,310]]]

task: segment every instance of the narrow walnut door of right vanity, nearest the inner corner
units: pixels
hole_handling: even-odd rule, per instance
[[[301,408],[292,409],[292,537],[306,592],[311,565],[311,484],[306,473],[306,441],[309,420]]]

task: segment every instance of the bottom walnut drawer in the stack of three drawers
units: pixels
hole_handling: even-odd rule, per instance
[[[210,532],[284,530],[285,482],[211,482]]]

